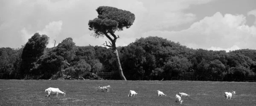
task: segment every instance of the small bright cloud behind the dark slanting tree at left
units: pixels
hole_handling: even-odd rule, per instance
[[[61,32],[61,26],[62,26],[62,20],[59,21],[52,21],[50,22],[48,25],[45,26],[45,28],[42,31],[37,31],[39,34],[45,34],[47,35],[50,40],[49,40],[49,44],[47,45],[47,47],[53,47],[54,43],[55,43],[55,38],[58,37],[58,35]],[[26,43],[28,41],[29,38],[31,38],[34,33],[30,33],[29,31],[27,31],[26,28],[23,28],[20,30],[21,31],[21,36],[23,38],[23,43]],[[58,44],[56,44],[58,45]]]

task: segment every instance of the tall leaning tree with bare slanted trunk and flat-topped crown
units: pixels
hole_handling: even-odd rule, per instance
[[[89,30],[93,30],[92,36],[98,37],[108,37],[110,42],[104,43],[104,46],[110,47],[113,52],[116,54],[116,60],[118,62],[119,74],[122,80],[126,80],[123,72],[121,63],[119,60],[118,51],[116,49],[116,39],[119,38],[119,35],[114,34],[116,31],[122,31],[125,27],[126,29],[134,23],[135,15],[130,11],[125,11],[122,9],[117,9],[109,6],[100,6],[96,9],[98,12],[98,18],[89,20]]]

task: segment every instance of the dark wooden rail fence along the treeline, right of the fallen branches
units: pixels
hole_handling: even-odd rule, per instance
[[[114,72],[99,72],[99,77],[102,77],[106,80],[121,80],[119,73]],[[127,80],[138,80],[138,78],[133,75],[125,74]],[[183,72],[178,77],[171,77],[171,80],[201,80],[201,81],[248,81],[248,82],[256,82],[256,73],[249,73],[247,76],[233,76],[232,74],[226,76],[211,76],[212,79],[209,79],[207,74],[205,73],[195,73],[195,72]],[[142,78],[143,79],[143,78]],[[146,79],[146,78],[144,78]]]

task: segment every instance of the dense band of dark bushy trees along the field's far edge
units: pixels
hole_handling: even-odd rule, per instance
[[[119,72],[111,48],[76,46],[70,37],[52,48],[46,47],[48,42],[47,35],[35,33],[19,49],[0,48],[0,73],[9,79],[78,79],[85,78],[84,73]],[[137,80],[170,80],[182,72],[204,73],[207,80],[214,80],[216,75],[246,77],[256,72],[256,50],[252,49],[190,49],[162,37],[140,38],[116,49],[124,74]]]

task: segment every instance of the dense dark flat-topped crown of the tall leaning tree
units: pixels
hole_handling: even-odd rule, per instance
[[[129,28],[135,20],[135,15],[130,11],[117,9],[115,7],[100,6],[96,9],[98,18],[89,20],[89,29],[95,32],[96,36],[104,36],[105,33],[115,33]]]

